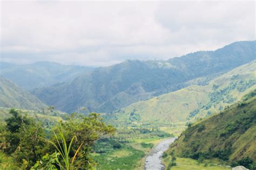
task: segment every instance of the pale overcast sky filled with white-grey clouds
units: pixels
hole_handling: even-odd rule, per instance
[[[255,40],[255,1],[1,1],[1,61],[109,66]]]

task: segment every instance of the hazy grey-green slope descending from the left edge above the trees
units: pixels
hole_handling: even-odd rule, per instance
[[[41,110],[47,106],[36,96],[0,76],[0,107]]]

